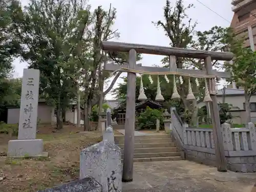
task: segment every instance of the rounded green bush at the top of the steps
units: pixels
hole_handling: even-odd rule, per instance
[[[140,129],[156,129],[157,119],[160,120],[160,129],[164,129],[163,111],[147,107],[137,117],[137,123]]]

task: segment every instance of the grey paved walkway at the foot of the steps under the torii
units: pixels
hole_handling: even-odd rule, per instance
[[[256,173],[220,173],[191,161],[134,163],[133,182],[123,183],[123,192],[250,192]]]

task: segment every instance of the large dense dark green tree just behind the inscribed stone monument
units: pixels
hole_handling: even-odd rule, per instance
[[[73,91],[67,62],[83,38],[90,12],[86,0],[31,0],[23,10],[13,5],[13,30],[22,45],[21,56],[40,70],[40,92],[56,106],[57,129],[61,109],[69,106]]]

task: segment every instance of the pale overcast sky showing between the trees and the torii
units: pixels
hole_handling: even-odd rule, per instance
[[[21,0],[21,2],[22,5],[28,4],[28,0]],[[108,9],[111,3],[112,7],[117,9],[114,28],[120,32],[118,41],[168,46],[169,39],[164,36],[163,30],[157,29],[152,24],[152,21],[163,20],[165,2],[165,0],[91,0],[89,4],[92,5],[92,9],[99,5]],[[171,0],[170,2],[174,5],[176,0]],[[185,0],[184,2],[186,5],[194,4],[195,6],[195,8],[187,11],[187,14],[193,19],[193,22],[198,22],[196,30],[205,31],[216,25],[229,27],[233,16],[231,0],[200,0],[205,6],[225,19],[200,4],[197,0]],[[140,63],[143,66],[161,65],[161,59],[162,56],[143,54],[143,59]],[[14,66],[14,76],[20,77],[23,75],[23,69],[27,67],[27,63],[16,59]],[[106,96],[106,99],[111,98],[110,94]]]

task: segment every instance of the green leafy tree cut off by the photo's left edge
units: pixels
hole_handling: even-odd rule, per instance
[[[10,3],[0,2],[0,115],[7,105],[18,104],[21,92],[20,79],[11,79],[12,61],[19,45],[12,35]]]

